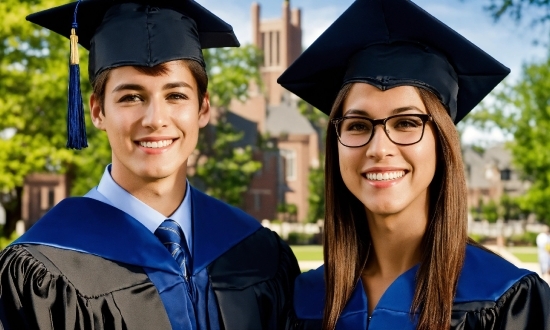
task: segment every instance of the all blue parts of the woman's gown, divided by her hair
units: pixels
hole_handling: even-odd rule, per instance
[[[343,329],[416,329],[418,314],[411,314],[418,265],[401,274],[380,298],[369,319],[367,295],[359,280],[338,322]],[[531,271],[468,245],[458,279],[455,303],[496,301],[512,285]],[[294,287],[294,311],[301,320],[321,320],[325,305],[324,267],[301,274]]]

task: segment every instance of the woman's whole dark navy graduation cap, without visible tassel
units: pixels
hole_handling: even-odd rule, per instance
[[[409,0],[356,0],[277,82],[326,114],[347,83],[417,86],[458,123],[508,73]]]

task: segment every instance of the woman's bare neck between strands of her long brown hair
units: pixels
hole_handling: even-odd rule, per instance
[[[396,278],[420,262],[427,212],[380,216],[367,212],[372,246],[365,268],[368,275]]]

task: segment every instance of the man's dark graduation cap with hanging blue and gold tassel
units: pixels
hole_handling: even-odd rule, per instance
[[[89,50],[90,81],[110,68],[153,67],[191,59],[202,49],[238,47],[231,25],[194,0],[79,0],[27,16],[71,39],[68,148],[87,146],[77,42]]]

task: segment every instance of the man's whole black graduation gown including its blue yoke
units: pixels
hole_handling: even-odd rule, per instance
[[[292,251],[244,212],[190,191],[200,306],[182,299],[181,270],[141,223],[68,198],[0,254],[0,329],[183,329],[190,308],[202,328],[281,328],[299,274]]]

